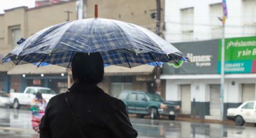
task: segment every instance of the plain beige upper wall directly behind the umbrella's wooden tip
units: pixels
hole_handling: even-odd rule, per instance
[[[143,26],[155,32],[155,19],[151,19],[151,13],[156,10],[155,0],[87,0],[87,18],[94,17],[94,5],[98,4],[99,17],[122,20]],[[164,22],[164,0],[161,0],[161,21]]]

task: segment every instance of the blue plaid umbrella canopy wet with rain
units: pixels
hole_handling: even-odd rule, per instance
[[[136,67],[187,58],[172,44],[141,26],[110,19],[84,19],[50,26],[31,35],[5,58],[14,64],[70,67],[76,52],[99,52],[105,65]]]

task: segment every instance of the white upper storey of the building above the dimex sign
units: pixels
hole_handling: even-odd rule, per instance
[[[171,43],[211,40],[222,37],[222,0],[186,1],[166,0],[164,37]],[[225,37],[248,37],[256,35],[256,1],[226,1]]]

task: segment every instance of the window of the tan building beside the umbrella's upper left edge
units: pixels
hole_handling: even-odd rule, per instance
[[[11,26],[9,28],[9,31],[10,31],[10,44],[14,48],[17,46],[17,41],[19,41],[21,38],[20,26]]]

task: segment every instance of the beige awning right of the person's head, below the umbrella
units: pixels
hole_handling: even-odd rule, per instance
[[[148,75],[154,71],[152,65],[139,65],[134,68],[120,67],[117,65],[110,65],[104,68],[105,76],[111,75]]]

